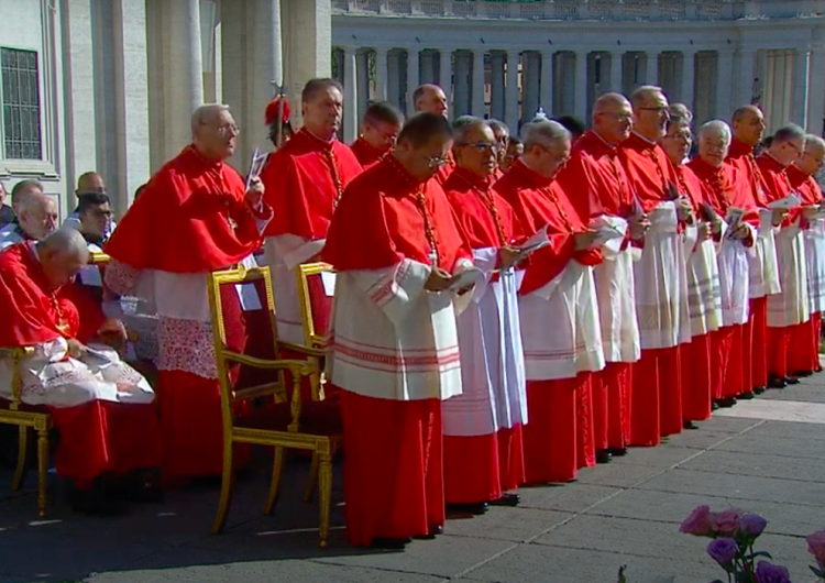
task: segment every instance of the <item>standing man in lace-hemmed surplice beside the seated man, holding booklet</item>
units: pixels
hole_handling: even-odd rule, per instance
[[[238,138],[229,108],[201,106],[191,129],[193,143],[152,177],[106,246],[112,257],[108,287],[157,309],[164,477],[173,483],[221,472],[223,426],[207,277],[249,261],[272,218],[261,182],[246,189],[224,162]],[[240,304],[229,296],[224,309],[231,300]],[[242,326],[228,320],[228,333]]]

